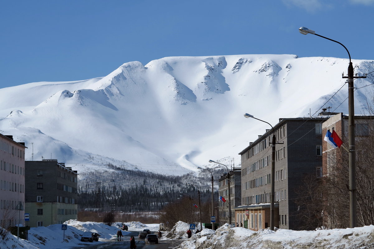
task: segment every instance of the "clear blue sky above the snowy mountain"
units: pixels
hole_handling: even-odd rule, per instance
[[[0,0],[0,87],[104,77],[166,56],[374,59],[374,0]]]

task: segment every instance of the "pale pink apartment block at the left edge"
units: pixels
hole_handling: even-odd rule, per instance
[[[17,143],[13,136],[0,134],[0,226],[3,228],[24,224],[26,148],[25,143]]]

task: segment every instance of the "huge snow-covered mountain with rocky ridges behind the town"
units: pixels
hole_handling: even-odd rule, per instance
[[[355,73],[374,61],[353,60]],[[182,174],[234,157],[276,124],[321,107],[347,113],[347,59],[295,55],[165,57],[128,62],[103,78],[0,89],[0,133],[28,147],[26,159],[58,159],[79,171],[111,162]],[[21,71],[21,69],[20,69]],[[16,77],[16,76],[15,76]],[[373,84],[370,74],[357,88]],[[365,111],[373,86],[355,92]],[[336,110],[334,110],[337,108]]]

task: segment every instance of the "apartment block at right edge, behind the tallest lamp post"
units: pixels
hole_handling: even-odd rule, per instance
[[[355,187],[356,195],[356,212],[358,226],[371,224],[373,214],[373,178],[370,177],[373,172],[373,115],[355,115]],[[346,227],[349,224],[349,121],[348,115],[338,113],[331,116],[322,124],[322,134],[327,131],[335,131],[344,142],[342,147],[334,149],[330,144],[323,141],[322,143],[322,172],[324,183],[333,184],[329,188],[330,193],[322,196],[324,205],[323,222],[328,228]],[[345,149],[343,148],[345,147]],[[337,182],[337,184],[334,184]],[[339,184],[341,183],[341,184]],[[361,198],[359,197],[361,196]],[[363,196],[363,197],[362,197]],[[338,201],[337,201],[338,200]],[[337,205],[336,203],[343,204]]]

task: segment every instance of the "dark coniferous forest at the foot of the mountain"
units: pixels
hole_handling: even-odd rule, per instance
[[[128,170],[108,164],[106,169],[80,173],[78,183],[78,209],[95,211],[159,211],[181,196],[197,199],[199,187],[201,202],[211,198],[209,172],[189,173],[181,176],[156,174],[150,171]],[[218,180],[223,169],[211,169]],[[218,198],[218,181],[214,181]],[[182,193],[181,193],[182,192]]]

